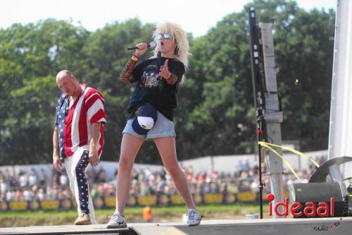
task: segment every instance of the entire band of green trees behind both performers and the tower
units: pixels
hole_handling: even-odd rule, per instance
[[[282,94],[282,138],[300,140],[301,150],[327,147],[334,44],[334,11],[304,11],[294,1],[255,0],[225,16],[202,37],[189,35],[187,80],[175,110],[179,159],[253,152],[256,141],[247,9],[274,23],[275,60]],[[47,19],[0,30],[0,162],[51,162],[56,73],[72,71],[106,99],[106,147],[116,160],[126,107],[134,85],[118,76],[126,50],[151,40],[152,24],[134,18],[96,32]],[[151,54],[146,55],[146,57]],[[160,162],[146,142],[137,162]]]

